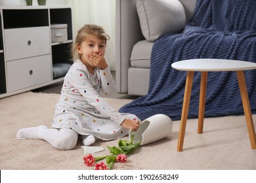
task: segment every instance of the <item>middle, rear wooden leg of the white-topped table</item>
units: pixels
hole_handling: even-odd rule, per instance
[[[202,72],[201,74],[200,100],[199,100],[199,112],[198,112],[198,133],[203,133],[203,118],[204,118],[204,111],[205,111],[207,75],[208,75],[207,72]]]

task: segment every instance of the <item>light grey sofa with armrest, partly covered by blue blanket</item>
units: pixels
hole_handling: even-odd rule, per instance
[[[186,21],[188,21],[196,0],[180,1],[185,10]],[[154,42],[147,41],[142,34],[137,13],[137,0],[116,0],[116,87],[118,93],[146,95],[153,44]]]

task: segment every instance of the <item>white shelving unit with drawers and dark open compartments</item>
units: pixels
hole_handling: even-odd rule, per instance
[[[72,63],[68,6],[0,6],[0,98],[60,82],[54,63]],[[51,41],[51,24],[67,24],[68,41]]]

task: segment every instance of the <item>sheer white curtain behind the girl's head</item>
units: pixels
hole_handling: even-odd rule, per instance
[[[79,28],[85,24],[97,24],[104,27],[110,36],[105,58],[111,70],[116,69],[116,3],[114,0],[66,0],[72,7],[73,37]]]

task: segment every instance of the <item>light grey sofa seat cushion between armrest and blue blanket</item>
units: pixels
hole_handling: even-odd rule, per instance
[[[131,67],[150,68],[150,57],[153,42],[139,41],[131,52]]]

